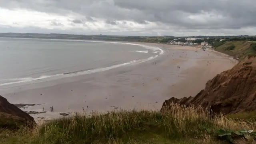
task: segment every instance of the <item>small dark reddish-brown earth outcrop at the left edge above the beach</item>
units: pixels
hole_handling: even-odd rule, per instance
[[[23,112],[20,108],[10,104],[6,98],[0,96],[0,128],[14,128],[13,126],[16,123],[16,127],[19,125],[24,126],[33,126],[35,123],[34,118]],[[10,124],[10,127],[8,127]]]

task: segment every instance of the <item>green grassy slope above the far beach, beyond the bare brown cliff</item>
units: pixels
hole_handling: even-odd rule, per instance
[[[222,45],[215,48],[218,52],[223,52],[238,58],[238,60],[244,59],[248,54],[256,55],[256,49],[254,49],[256,42],[252,41],[230,41],[224,42]]]

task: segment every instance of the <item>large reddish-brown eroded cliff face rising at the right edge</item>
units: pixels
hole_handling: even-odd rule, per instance
[[[168,110],[171,102],[200,105],[223,114],[256,110],[256,57],[245,58],[232,69],[218,74],[194,97],[166,100],[161,110]]]

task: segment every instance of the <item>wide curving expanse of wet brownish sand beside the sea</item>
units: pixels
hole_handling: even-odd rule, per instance
[[[162,48],[164,55],[104,72],[25,85],[2,96],[13,104],[37,104],[21,108],[24,111],[42,112],[44,108],[46,113],[31,114],[37,119],[57,118],[60,113],[83,109],[86,112],[120,108],[158,110],[170,97],[195,96],[208,80],[235,64],[232,58],[212,50],[150,45]],[[54,112],[50,112],[50,106]]]

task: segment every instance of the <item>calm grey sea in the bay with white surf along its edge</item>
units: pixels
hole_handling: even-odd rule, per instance
[[[0,38],[0,89],[102,72],[163,53],[128,42]]]

